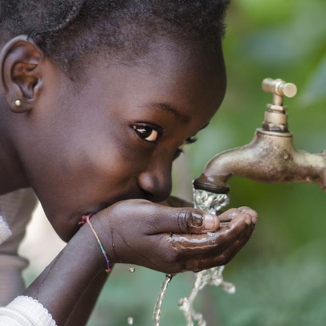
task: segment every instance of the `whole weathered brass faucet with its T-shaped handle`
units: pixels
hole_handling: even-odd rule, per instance
[[[253,140],[215,155],[194,180],[194,187],[227,194],[227,180],[241,176],[268,183],[315,182],[326,192],[326,150],[318,154],[296,150],[293,134],[288,131],[283,96],[295,96],[296,86],[266,78],[262,89],[273,93],[273,104],[267,104],[262,127],[256,129]]]

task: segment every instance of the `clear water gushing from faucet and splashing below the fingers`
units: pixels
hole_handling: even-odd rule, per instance
[[[210,213],[219,211],[229,204],[230,200],[226,194],[214,194],[200,189],[194,189],[195,208],[206,210]],[[222,272],[224,266],[205,269],[196,273],[195,282],[188,297],[179,300],[179,309],[183,312],[187,326],[194,326],[194,320],[198,326],[206,326],[203,315],[194,310],[194,302],[197,294],[206,285],[221,287],[227,293],[235,293],[235,286],[223,280]]]

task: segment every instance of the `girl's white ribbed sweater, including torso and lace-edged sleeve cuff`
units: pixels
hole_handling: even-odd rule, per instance
[[[19,283],[20,271],[26,265],[25,260],[16,255],[16,251],[29,220],[27,215],[34,207],[33,196],[31,189],[20,189],[0,199],[1,210],[8,213],[15,231],[15,234],[11,232],[4,215],[0,213],[0,280],[3,283],[0,288],[4,287],[0,298],[1,295],[10,296],[11,290],[17,288],[17,284],[12,282],[16,280]],[[15,277],[15,273],[19,277]],[[37,300],[17,296],[7,306],[0,307],[0,326],[56,326],[56,322]]]

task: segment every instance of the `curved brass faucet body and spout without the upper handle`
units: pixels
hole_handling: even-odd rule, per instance
[[[233,176],[268,183],[315,182],[326,192],[326,150],[296,150],[292,133],[259,128],[249,144],[215,155],[194,185],[222,188]]]

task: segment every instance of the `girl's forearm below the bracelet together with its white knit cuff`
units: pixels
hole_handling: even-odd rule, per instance
[[[90,229],[82,227],[21,296],[0,307],[0,324],[64,325],[80,295],[102,269],[97,246]]]

